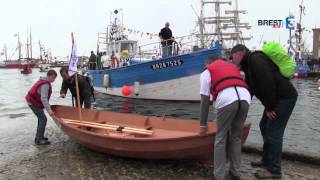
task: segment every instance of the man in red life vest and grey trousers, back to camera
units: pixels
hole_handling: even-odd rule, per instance
[[[251,101],[248,86],[234,64],[210,57],[200,76],[200,135],[207,132],[210,94],[217,109],[218,130],[214,145],[214,178],[225,179],[226,143],[229,133],[229,155],[232,179],[240,179],[241,137]]]

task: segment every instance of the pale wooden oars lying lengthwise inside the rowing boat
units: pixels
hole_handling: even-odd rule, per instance
[[[95,122],[88,122],[88,121],[77,121],[72,119],[64,119],[61,118],[63,122],[67,124],[75,124],[80,126],[92,127],[92,128],[99,128],[99,129],[106,129],[106,130],[113,130],[119,132],[127,132],[127,133],[136,133],[136,134],[143,134],[143,135],[152,135],[152,130],[140,129],[140,128],[131,128],[126,126],[119,126],[119,125],[111,125],[111,124],[101,124]]]

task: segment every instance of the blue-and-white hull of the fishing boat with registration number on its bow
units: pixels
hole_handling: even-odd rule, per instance
[[[137,99],[199,101],[200,74],[208,57],[219,57],[220,53],[220,49],[212,48],[118,69],[89,70],[88,73],[92,77],[95,90],[108,95]],[[105,75],[108,76],[107,86]],[[136,82],[139,87],[136,87]],[[124,86],[131,86],[132,93],[123,95]]]

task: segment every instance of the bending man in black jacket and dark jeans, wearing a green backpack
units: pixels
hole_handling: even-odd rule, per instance
[[[263,52],[250,52],[244,45],[231,50],[233,61],[245,72],[252,95],[265,107],[260,121],[263,137],[263,156],[252,166],[265,167],[256,173],[258,178],[281,177],[283,134],[296,104],[298,93],[291,82]]]

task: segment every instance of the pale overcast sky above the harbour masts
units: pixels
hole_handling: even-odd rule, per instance
[[[234,0],[233,0],[234,1]],[[200,0],[1,0],[0,49],[7,43],[10,57],[17,46],[19,33],[26,42],[27,28],[31,27],[34,56],[39,56],[38,41],[51,48],[53,56],[70,53],[70,32],[75,33],[79,55],[89,55],[96,49],[97,32],[104,31],[110,12],[121,8],[124,25],[144,32],[158,33],[166,21],[171,24],[174,36],[190,34],[196,16],[192,11],[200,9]],[[285,43],[285,28],[258,27],[258,19],[285,19],[289,10],[298,18],[301,0],[239,0],[240,9],[248,11],[241,20],[249,22],[248,35],[254,38],[247,45],[259,47],[261,38]],[[311,30],[320,27],[319,0],[305,0],[306,15],[303,25]],[[312,50],[312,33],[305,33],[306,45]],[[154,39],[153,41],[155,41]]]

